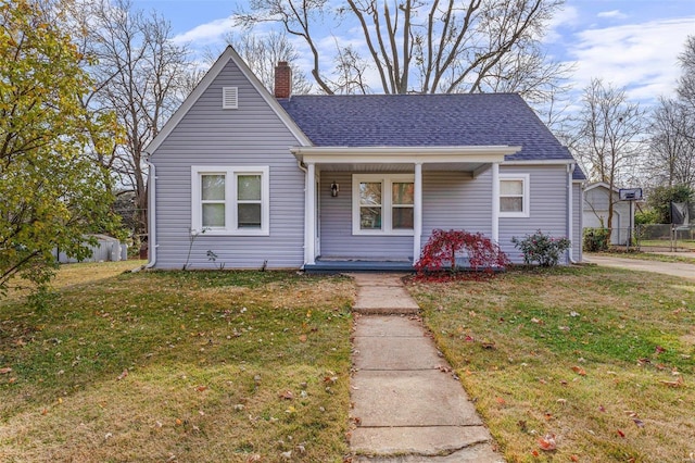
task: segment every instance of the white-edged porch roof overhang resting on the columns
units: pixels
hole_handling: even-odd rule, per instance
[[[422,170],[478,172],[505,155],[521,150],[520,146],[473,147],[293,147],[290,151],[305,164],[321,171],[403,171],[415,164]]]

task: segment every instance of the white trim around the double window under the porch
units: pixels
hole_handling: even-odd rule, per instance
[[[381,229],[364,230],[359,228],[359,184],[362,182],[381,183]],[[371,236],[414,236],[413,229],[392,228],[391,185],[400,182],[415,184],[415,175],[409,174],[353,174],[352,176],[352,234]],[[415,210],[415,204],[413,204]],[[414,224],[415,225],[415,224]]]

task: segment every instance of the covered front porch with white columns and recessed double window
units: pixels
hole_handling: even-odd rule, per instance
[[[519,149],[293,148],[306,172],[304,270],[413,272],[432,228],[462,228],[462,224],[496,241],[500,164]],[[439,184],[437,175],[447,175],[451,188]],[[429,178],[427,185],[424,176]],[[479,177],[485,179],[480,183]],[[396,201],[406,190],[408,201]],[[466,197],[478,199],[472,223],[451,217],[460,215]]]

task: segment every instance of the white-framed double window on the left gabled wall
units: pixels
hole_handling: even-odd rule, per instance
[[[267,166],[193,166],[191,187],[193,233],[268,235]]]

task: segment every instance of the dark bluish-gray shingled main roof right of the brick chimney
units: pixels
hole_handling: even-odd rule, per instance
[[[293,96],[279,100],[318,147],[521,146],[508,161],[572,157],[516,93]]]

